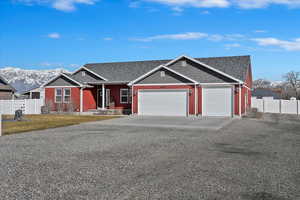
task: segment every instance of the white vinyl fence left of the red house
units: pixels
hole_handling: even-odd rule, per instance
[[[41,114],[42,99],[0,100],[0,114],[13,115],[16,110],[23,114]]]

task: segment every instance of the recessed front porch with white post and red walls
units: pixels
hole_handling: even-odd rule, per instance
[[[95,115],[131,114],[131,91],[126,84],[93,84],[83,90],[83,111]]]

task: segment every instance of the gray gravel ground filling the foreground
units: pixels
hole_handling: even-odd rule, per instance
[[[274,120],[272,120],[274,118]],[[300,199],[300,123],[81,124],[0,138],[0,199]]]

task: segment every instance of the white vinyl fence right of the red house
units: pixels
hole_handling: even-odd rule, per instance
[[[251,107],[264,113],[282,113],[300,115],[300,101],[277,99],[251,99]]]

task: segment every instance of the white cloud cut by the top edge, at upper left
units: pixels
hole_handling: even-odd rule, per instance
[[[76,10],[76,4],[93,5],[97,0],[15,0],[19,3],[29,5],[43,5],[50,4],[52,8],[60,11],[70,12]]]

